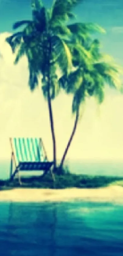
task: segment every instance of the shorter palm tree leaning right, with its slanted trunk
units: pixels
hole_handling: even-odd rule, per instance
[[[60,171],[62,171],[64,160],[76,132],[80,110],[86,97],[96,97],[101,104],[104,100],[106,85],[118,90],[121,89],[120,75],[123,74],[122,69],[113,63],[110,56],[100,53],[98,40],[94,40],[87,47],[90,58],[78,60],[76,69],[71,72],[69,77],[64,75],[60,78],[63,89],[67,93],[73,94],[72,112],[75,114],[74,127],[60,162]]]

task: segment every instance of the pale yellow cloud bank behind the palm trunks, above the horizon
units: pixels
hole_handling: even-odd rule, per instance
[[[9,137],[42,137],[49,159],[52,159],[52,138],[48,106],[41,88],[31,93],[28,87],[27,60],[16,66],[11,48],[0,35],[0,157],[10,158]],[[52,103],[57,141],[57,157],[61,158],[71,134],[74,116],[72,98],[62,93]],[[108,91],[97,114],[93,100],[87,101],[83,118],[68,152],[68,159],[122,158],[123,96]],[[99,110],[99,109],[98,109]]]

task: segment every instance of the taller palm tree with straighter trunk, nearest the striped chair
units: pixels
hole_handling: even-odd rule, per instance
[[[53,142],[53,161],[56,168],[56,139],[51,101],[60,92],[59,74],[69,75],[72,67],[72,47],[85,58],[87,51],[79,47],[79,39],[89,40],[90,32],[101,31],[98,25],[70,23],[74,18],[72,9],[81,0],[55,0],[50,9],[46,9],[41,0],[32,1],[32,20],[23,20],[13,25],[14,29],[24,26],[6,40],[16,53],[15,64],[23,55],[27,56],[29,68],[29,86],[34,90],[38,81],[42,81],[42,91],[48,102],[49,119]],[[77,37],[75,36],[77,35]],[[78,40],[76,39],[78,38]]]

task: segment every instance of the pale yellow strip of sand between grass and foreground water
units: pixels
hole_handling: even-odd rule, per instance
[[[103,201],[123,203],[123,187],[110,185],[106,188],[14,188],[0,191],[0,201],[45,202],[45,201]]]

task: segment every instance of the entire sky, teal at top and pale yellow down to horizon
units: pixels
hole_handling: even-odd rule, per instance
[[[49,159],[52,138],[47,103],[41,88],[28,88],[26,58],[14,65],[15,56],[5,38],[13,33],[13,23],[31,18],[30,0],[0,0],[0,159],[10,158],[9,137],[42,137]],[[45,0],[46,6],[52,1]],[[102,50],[123,65],[123,1],[86,0],[75,10],[77,20],[95,22],[106,30],[98,36]],[[57,140],[57,157],[61,158],[74,124],[72,98],[60,94],[52,103]],[[88,100],[79,121],[67,159],[122,159],[123,95],[106,90],[99,107]]]

